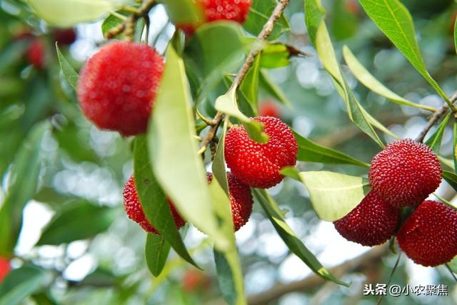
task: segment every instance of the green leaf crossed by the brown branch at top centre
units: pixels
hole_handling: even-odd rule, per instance
[[[273,13],[276,7],[276,0],[253,0],[251,9],[249,10],[248,19],[243,24],[243,28],[249,33],[257,36],[262,28],[263,24],[266,24],[269,16]],[[278,39],[286,31],[290,31],[290,25],[284,15],[276,21],[268,39]]]

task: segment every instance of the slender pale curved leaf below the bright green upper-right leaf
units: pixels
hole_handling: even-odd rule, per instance
[[[426,109],[428,111],[435,111],[433,107],[416,104],[411,101],[408,101],[407,99],[403,99],[403,97],[399,96],[398,94],[394,93],[386,86],[381,84],[381,82],[375,79],[375,77],[371,75],[367,69],[365,69],[365,67],[360,63],[360,61],[356,59],[356,56],[354,56],[354,54],[351,52],[351,49],[349,49],[348,46],[343,46],[343,56],[352,74],[356,76],[356,79],[358,79],[358,81],[360,81],[371,91],[376,92],[380,96],[383,96],[386,99],[393,101],[397,104],[411,106],[420,109]]]

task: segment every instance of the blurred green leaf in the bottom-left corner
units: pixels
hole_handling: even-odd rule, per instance
[[[19,305],[41,289],[46,279],[43,269],[34,266],[22,266],[12,270],[0,284],[0,305]]]

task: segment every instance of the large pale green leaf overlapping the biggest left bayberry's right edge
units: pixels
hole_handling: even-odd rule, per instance
[[[197,154],[184,63],[171,46],[166,59],[148,133],[154,174],[180,214],[211,236],[218,249],[227,249],[229,237],[219,230],[204,164]]]

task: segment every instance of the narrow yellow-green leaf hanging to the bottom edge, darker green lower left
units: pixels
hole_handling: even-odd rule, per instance
[[[224,251],[224,253],[214,249],[219,286],[222,296],[224,296],[224,299],[229,305],[245,305],[246,297],[244,296],[243,272],[241,271],[238,251],[235,245],[230,201],[226,192],[219,184],[217,177],[215,178],[209,185],[211,197],[217,206],[216,211],[219,219],[222,221],[221,230],[229,236],[231,241],[230,249]]]

